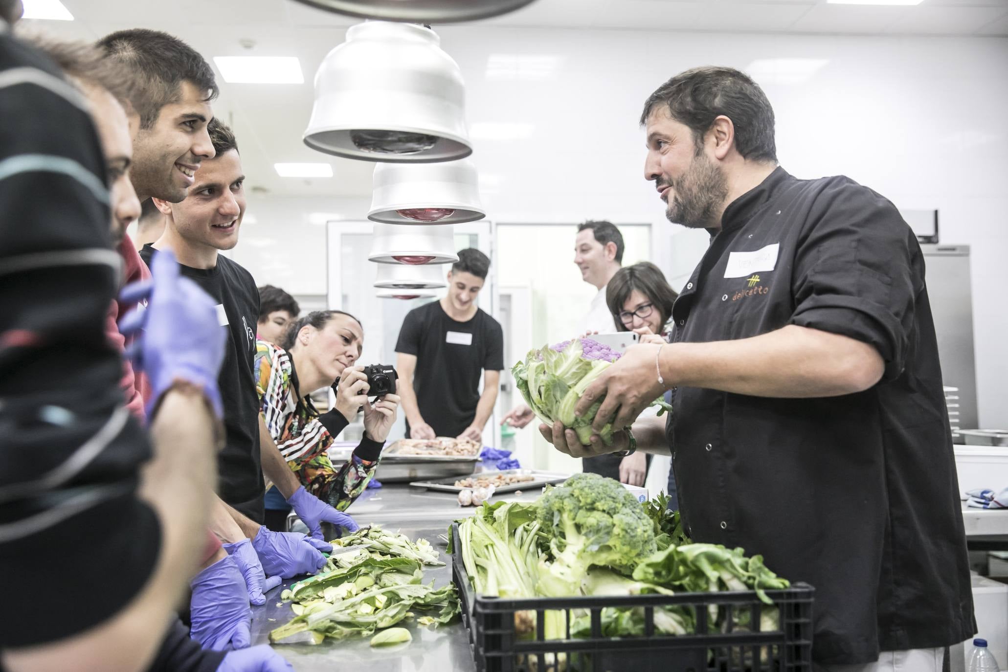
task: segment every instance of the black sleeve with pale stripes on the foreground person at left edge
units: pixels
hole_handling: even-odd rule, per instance
[[[104,328],[121,260],[98,135],[80,94],[2,20],[0,120],[0,575],[17,577],[8,597],[28,610],[0,633],[13,648],[121,610],[156,564],[160,529],[136,497],[150,445]],[[88,580],[49,590],[39,549],[65,544]],[[35,603],[56,599],[75,608],[52,622]]]

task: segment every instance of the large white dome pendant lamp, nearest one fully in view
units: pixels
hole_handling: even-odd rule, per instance
[[[365,161],[451,161],[473,153],[462,71],[430,28],[366,21],[316,74],[304,144]]]

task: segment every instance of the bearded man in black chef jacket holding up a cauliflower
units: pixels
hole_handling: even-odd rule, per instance
[[[692,538],[815,587],[812,658],[834,672],[938,672],[976,632],[952,435],[920,248],[886,198],[777,165],[773,110],[729,68],[647,100],[645,177],[711,234],[673,342],[627,350],[586,390],[612,447],[668,452]],[[662,428],[629,426],[673,389]]]

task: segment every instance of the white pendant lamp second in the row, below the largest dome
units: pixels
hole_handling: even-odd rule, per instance
[[[379,163],[368,219],[385,224],[461,224],[486,217],[471,160]]]

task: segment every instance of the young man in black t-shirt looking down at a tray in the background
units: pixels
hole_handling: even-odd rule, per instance
[[[402,322],[396,370],[410,438],[483,440],[504,368],[500,322],[476,305],[489,270],[487,255],[462,250],[448,274],[448,296],[410,310]]]

